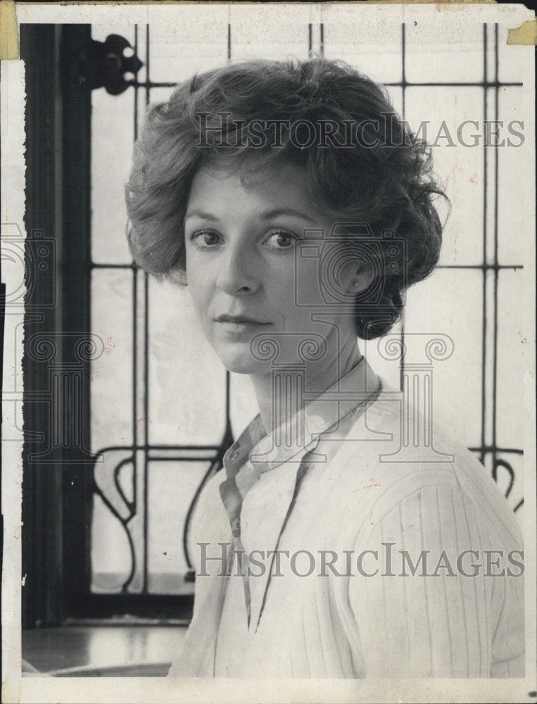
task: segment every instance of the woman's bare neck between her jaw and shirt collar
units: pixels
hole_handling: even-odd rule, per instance
[[[283,367],[275,374],[251,375],[267,434],[291,420],[312,400],[312,395],[319,396],[333,386],[360,363],[362,357],[357,339],[351,337],[341,346],[339,354],[331,358],[325,355],[317,363],[308,363],[301,369]],[[303,400],[301,391],[309,392],[307,401]]]

